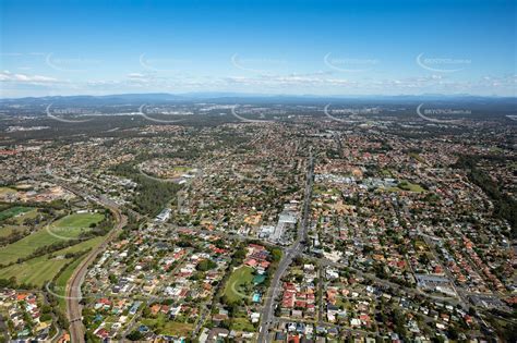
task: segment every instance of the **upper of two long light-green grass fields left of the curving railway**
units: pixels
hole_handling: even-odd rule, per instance
[[[77,237],[89,224],[101,221],[100,213],[74,213],[61,218],[49,228],[44,226],[36,233],[0,248],[0,261],[12,262],[21,257],[26,257],[39,247]]]

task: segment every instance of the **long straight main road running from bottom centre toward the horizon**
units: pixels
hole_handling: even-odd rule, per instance
[[[284,252],[284,256],[278,264],[278,268],[273,275],[273,280],[267,292],[267,296],[264,301],[264,307],[262,308],[262,320],[261,327],[258,330],[258,338],[257,342],[268,342],[269,341],[269,324],[270,321],[275,318],[274,310],[275,310],[275,299],[279,292],[279,284],[280,280],[286,272],[289,265],[292,262],[292,259],[303,250],[303,246],[306,240],[306,233],[309,230],[309,213],[311,209],[311,198],[312,198],[312,186],[314,181],[314,157],[312,155],[312,150],[310,151],[309,156],[309,164],[306,171],[306,180],[305,180],[305,192],[304,192],[304,199],[303,199],[303,209],[302,209],[302,220],[298,228],[298,236],[297,240],[292,243],[292,245]]]

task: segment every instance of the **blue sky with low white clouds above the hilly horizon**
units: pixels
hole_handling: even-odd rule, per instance
[[[0,0],[0,97],[516,96],[516,2]]]

